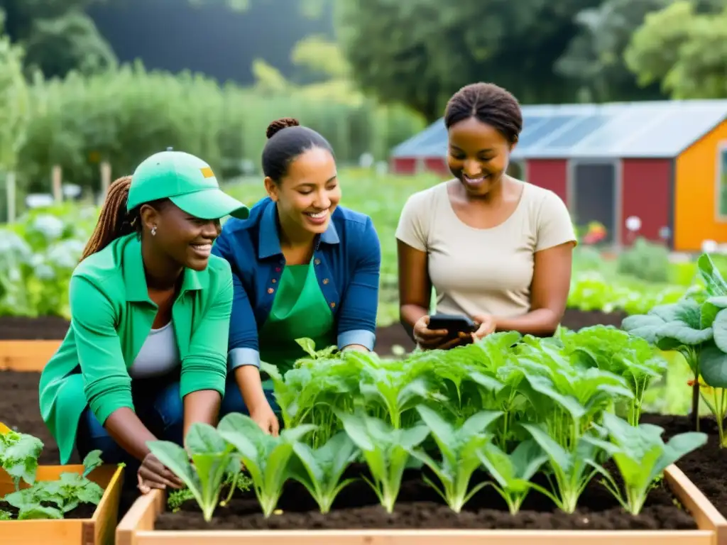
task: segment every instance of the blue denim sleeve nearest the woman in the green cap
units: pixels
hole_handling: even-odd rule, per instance
[[[233,235],[223,229],[212,248],[213,254],[230,263],[232,273],[233,299],[227,355],[229,371],[241,366],[260,367],[257,321],[231,248],[231,237]]]

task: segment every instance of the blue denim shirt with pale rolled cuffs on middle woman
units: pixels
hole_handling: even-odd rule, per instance
[[[228,368],[260,367],[257,333],[268,318],[285,266],[276,203],[255,203],[247,219],[230,218],[212,253],[230,262],[234,296]],[[334,315],[339,348],[374,349],[381,245],[371,218],[337,206],[313,252],[318,285]]]

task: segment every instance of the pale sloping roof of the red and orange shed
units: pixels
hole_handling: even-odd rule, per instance
[[[727,119],[727,100],[523,105],[513,159],[673,158]],[[392,157],[443,157],[442,119],[393,150]]]

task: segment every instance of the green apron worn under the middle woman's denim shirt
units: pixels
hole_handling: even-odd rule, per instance
[[[287,265],[278,283],[278,293],[270,315],[258,333],[260,360],[285,374],[296,360],[306,354],[295,339],[308,337],[316,350],[336,342],[333,313],[318,285],[311,259],[308,265]],[[273,382],[262,374],[263,389],[273,389]]]

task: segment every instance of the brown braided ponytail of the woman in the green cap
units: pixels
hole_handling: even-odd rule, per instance
[[[129,198],[129,187],[132,185],[132,177],[124,176],[114,180],[114,182],[108,186],[108,192],[106,198],[103,201],[101,213],[99,215],[96,227],[93,230],[91,238],[86,243],[84,253],[81,256],[81,261],[86,259],[97,251],[103,250],[116,238],[124,235],[130,235],[137,233],[141,236],[142,222],[140,209],[141,206],[137,206],[132,211],[126,212],[126,201]],[[162,201],[168,199],[159,199],[149,204],[158,208]]]

